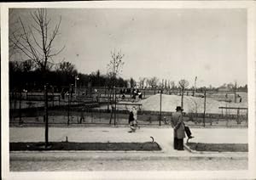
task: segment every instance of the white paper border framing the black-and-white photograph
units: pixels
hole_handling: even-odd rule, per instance
[[[248,84],[248,170],[247,171],[172,171],[172,172],[9,172],[9,8],[245,8],[247,9],[247,84]],[[256,3],[251,1],[103,1],[1,3],[1,119],[3,179],[174,179],[174,178],[253,178],[256,177],[255,121],[255,22]],[[38,176],[40,175],[40,176]]]

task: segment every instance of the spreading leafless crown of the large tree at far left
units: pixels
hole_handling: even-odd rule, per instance
[[[59,35],[61,17],[55,25],[53,31],[50,31],[50,21],[47,10],[45,8],[38,8],[31,13],[31,24],[25,25],[21,18],[18,18],[20,23],[20,31],[10,32],[10,44],[13,48],[20,50],[28,59],[38,65],[39,70],[43,73],[49,68],[49,64],[54,64],[53,57],[61,53],[65,48],[55,50],[53,42]]]

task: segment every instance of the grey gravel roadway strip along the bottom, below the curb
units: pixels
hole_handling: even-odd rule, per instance
[[[11,160],[11,172],[247,170],[247,160]]]

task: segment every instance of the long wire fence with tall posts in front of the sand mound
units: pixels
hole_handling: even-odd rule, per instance
[[[243,101],[235,103],[234,92],[136,91],[106,87],[69,86],[61,90],[48,87],[45,96],[44,92],[16,90],[9,93],[9,122],[11,126],[44,126],[45,121],[49,126],[123,126],[128,124],[129,109],[135,105],[141,125],[170,126],[172,112],[183,102],[183,118],[189,126],[247,127],[246,92],[236,92]]]

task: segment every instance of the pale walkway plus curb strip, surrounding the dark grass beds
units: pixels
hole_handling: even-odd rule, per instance
[[[137,151],[47,151],[47,152],[11,152],[11,158],[22,159],[42,154],[50,157],[72,157],[72,158],[120,158],[120,159],[193,159],[193,158],[247,158],[247,153],[191,153],[188,150],[177,151],[173,149],[173,131],[166,127],[141,127],[135,133],[128,133],[128,127],[49,127],[49,141],[69,142],[151,142],[160,144],[160,152],[137,152]],[[247,129],[191,129],[195,138],[189,142],[195,143],[247,143]],[[44,142],[44,127],[10,127],[9,142]],[[68,153],[68,155],[67,155]],[[21,155],[22,154],[22,155]],[[27,155],[26,155],[27,154]],[[40,155],[39,155],[40,154]],[[45,157],[47,158],[47,157]]]

